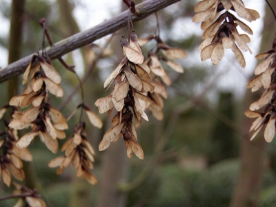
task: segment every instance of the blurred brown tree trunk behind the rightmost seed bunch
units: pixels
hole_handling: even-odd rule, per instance
[[[271,1],[272,8],[276,8],[276,1]],[[264,19],[264,29],[262,44],[259,52],[266,52],[271,49],[275,31],[271,32],[268,28],[275,23],[274,17],[270,8],[266,6],[266,17]],[[259,96],[259,94],[257,95]],[[246,109],[253,101],[259,99],[254,93],[248,90],[245,101]],[[266,153],[266,141],[264,141],[263,130],[255,137],[255,140],[249,141],[252,133],[248,132],[252,124],[252,120],[245,118],[244,128],[246,132],[241,139],[241,170],[239,178],[235,186],[233,198],[230,203],[231,207],[255,207],[259,197],[259,192],[262,185],[262,175],[264,172],[264,157]]]

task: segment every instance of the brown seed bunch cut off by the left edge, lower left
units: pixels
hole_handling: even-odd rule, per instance
[[[12,115],[19,113],[16,107],[4,106],[0,109],[0,119],[8,108],[12,108]],[[19,148],[17,146],[17,130],[10,128],[9,122],[5,119],[5,131],[0,132],[0,176],[3,182],[10,186],[11,175],[18,180],[23,180],[25,177],[22,170],[23,161],[32,161],[32,155],[26,148]],[[8,170],[10,169],[10,170]],[[0,178],[1,178],[0,177]]]

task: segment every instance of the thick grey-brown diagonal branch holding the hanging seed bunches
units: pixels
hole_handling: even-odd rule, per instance
[[[148,15],[157,12],[158,10],[166,8],[166,6],[170,6],[172,3],[176,3],[177,1],[180,0],[144,1],[143,3],[139,3],[136,6],[136,9],[140,12],[139,17],[135,16],[135,14],[132,14],[131,19],[132,21],[139,21],[141,19],[144,19],[145,17],[148,17]],[[127,23],[128,10],[121,12],[121,14],[118,14],[116,17],[113,17],[108,21],[100,23],[98,26],[95,26],[94,28],[90,28],[89,30],[79,32],[77,34],[72,35],[71,37],[68,37],[67,39],[63,39],[55,43],[55,46],[46,49],[47,54],[50,57],[50,59],[57,59],[62,55],[71,52],[72,50],[81,48],[82,46],[85,46],[88,43],[92,43],[93,41],[100,39],[101,37],[104,37],[108,34],[111,34],[112,32],[119,30],[120,28],[125,27]],[[10,79],[10,77],[14,77],[16,75],[21,74],[28,66],[31,57],[32,55],[29,55],[28,57],[24,57],[23,59],[20,59],[19,61],[16,61],[8,65],[6,68],[1,69],[0,82],[6,81],[7,79]]]

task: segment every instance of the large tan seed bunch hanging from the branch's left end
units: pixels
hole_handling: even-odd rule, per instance
[[[32,64],[36,59],[39,63],[34,66],[30,73]],[[21,108],[31,105],[31,107],[14,114],[9,126],[16,130],[32,128],[31,132],[19,139],[17,146],[26,148],[32,139],[39,135],[47,148],[56,153],[59,148],[57,138],[64,139],[66,137],[63,130],[68,129],[68,124],[61,112],[47,103],[47,99],[48,92],[56,97],[63,96],[63,90],[60,87],[61,77],[52,66],[50,59],[39,55],[39,53],[32,57],[32,61],[23,75],[23,84],[28,82],[29,75],[30,81],[24,88],[22,95],[12,97],[10,105]]]

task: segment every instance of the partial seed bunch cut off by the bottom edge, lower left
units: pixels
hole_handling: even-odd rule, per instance
[[[41,199],[41,195],[37,194],[37,190],[31,190],[26,186],[21,186],[16,182],[13,182],[15,186],[15,190],[13,191],[12,195],[21,195],[20,199],[17,201],[17,204],[14,207],[23,207],[23,206],[30,206],[30,207],[46,207],[47,205]],[[24,195],[24,196],[22,196]]]

